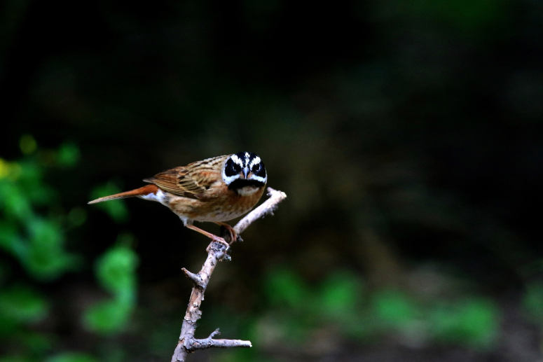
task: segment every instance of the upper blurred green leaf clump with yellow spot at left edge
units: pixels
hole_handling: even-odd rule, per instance
[[[43,207],[53,209],[57,192],[43,180],[43,165],[52,161],[57,167],[66,166],[57,158],[66,152],[31,155],[37,146],[29,135],[21,137],[20,147],[27,154],[25,159],[0,162],[0,247],[17,258],[32,277],[51,280],[74,270],[78,263],[78,258],[64,249],[62,224],[67,220],[40,212]],[[60,150],[70,147],[74,146],[63,145]]]

